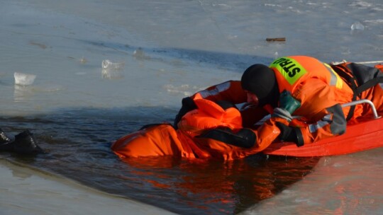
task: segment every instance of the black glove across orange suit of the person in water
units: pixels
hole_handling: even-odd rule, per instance
[[[196,137],[215,139],[226,144],[249,149],[254,146],[257,136],[250,129],[240,129],[234,133],[228,127],[211,129]]]

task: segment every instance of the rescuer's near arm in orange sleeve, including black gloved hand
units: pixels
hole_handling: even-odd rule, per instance
[[[299,114],[314,123],[305,127],[277,123],[281,131],[279,139],[303,146],[345,132],[347,122],[339,103],[345,103],[347,98],[337,95],[333,88],[318,80],[307,83],[298,92],[296,96],[302,102]]]

